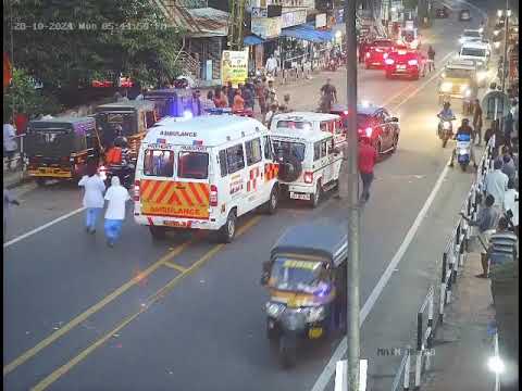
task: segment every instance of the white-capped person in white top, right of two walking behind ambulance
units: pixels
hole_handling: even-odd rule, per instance
[[[125,203],[130,200],[127,189],[120,185],[120,178],[113,176],[111,187],[107,190],[105,200],[109,201],[105,211],[105,237],[107,244],[114,247],[122,232],[125,219]]]

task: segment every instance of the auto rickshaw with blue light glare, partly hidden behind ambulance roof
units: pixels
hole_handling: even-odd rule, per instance
[[[187,118],[203,114],[200,101],[195,99],[188,88],[151,90],[145,92],[144,98],[156,103],[160,118],[165,116]]]

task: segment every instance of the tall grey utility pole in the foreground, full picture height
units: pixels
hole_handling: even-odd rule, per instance
[[[347,262],[347,391],[359,391],[359,143],[357,134],[356,0],[345,0],[346,92],[348,103],[348,262]]]

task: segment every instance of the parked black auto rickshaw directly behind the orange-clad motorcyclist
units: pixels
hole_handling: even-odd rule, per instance
[[[103,150],[109,150],[117,136],[123,136],[127,139],[133,159],[138,156],[147,129],[158,121],[154,103],[147,100],[102,104],[95,112],[97,135]]]

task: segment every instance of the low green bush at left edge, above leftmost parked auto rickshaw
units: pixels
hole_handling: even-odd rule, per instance
[[[24,113],[29,116],[36,114],[57,114],[61,106],[55,100],[41,94],[35,89],[34,80],[24,70],[13,70],[11,86],[3,94],[3,117],[9,118],[15,113]]]

